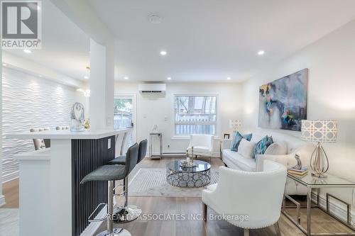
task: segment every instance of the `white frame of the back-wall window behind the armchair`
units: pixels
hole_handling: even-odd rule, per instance
[[[184,122],[184,121],[176,121],[176,110],[175,110],[175,101],[176,101],[176,97],[177,96],[215,96],[216,97],[216,121],[200,121],[200,122],[194,122],[194,123],[190,123],[190,122]],[[209,125],[209,124],[213,124],[215,125],[215,130],[214,130],[214,138],[218,139],[219,137],[219,130],[220,130],[220,123],[219,123],[219,96],[218,94],[173,94],[173,114],[174,114],[174,121],[173,121],[173,134],[174,136],[172,137],[172,139],[189,139],[190,138],[190,134],[182,134],[182,135],[178,135],[176,134],[176,128],[175,125],[178,124],[204,124],[204,125]]]

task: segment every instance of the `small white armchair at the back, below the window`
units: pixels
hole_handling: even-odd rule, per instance
[[[213,153],[213,135],[190,135],[190,144],[187,147],[187,151],[191,153],[192,147],[194,147],[195,156],[209,157]]]

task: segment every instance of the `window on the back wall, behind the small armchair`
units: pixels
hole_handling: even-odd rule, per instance
[[[217,96],[175,96],[175,134],[215,135]]]

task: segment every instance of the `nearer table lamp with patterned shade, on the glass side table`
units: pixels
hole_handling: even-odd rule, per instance
[[[329,169],[329,160],[322,143],[337,142],[337,130],[337,120],[302,120],[302,140],[317,142],[310,159],[313,176],[319,178],[327,177],[325,173]]]

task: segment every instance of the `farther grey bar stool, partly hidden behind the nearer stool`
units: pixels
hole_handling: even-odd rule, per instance
[[[137,164],[141,162],[144,157],[146,157],[147,153],[147,145],[148,140],[142,140],[139,142],[138,148],[138,160]],[[115,159],[111,160],[108,164],[126,164],[126,157],[120,156],[116,157]],[[139,215],[141,215],[142,210],[138,208],[136,205],[128,205],[129,201],[129,177],[126,176],[124,179],[124,206],[120,208],[114,209],[114,219],[117,223],[128,223],[133,220],[136,220]]]

